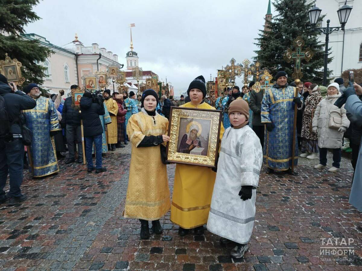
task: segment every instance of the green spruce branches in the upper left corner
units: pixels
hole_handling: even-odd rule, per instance
[[[0,60],[5,53],[21,62],[23,86],[29,83],[41,85],[46,76],[45,68],[37,63],[43,62],[52,51],[41,46],[38,40],[26,40],[21,34],[24,26],[40,19],[33,11],[39,0],[0,0]]]

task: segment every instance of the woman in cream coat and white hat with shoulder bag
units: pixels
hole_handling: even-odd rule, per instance
[[[336,107],[334,103],[342,94],[339,85],[332,83],[327,88],[327,97],[320,101],[313,117],[313,132],[318,135],[319,164],[314,168],[327,166],[327,149],[333,150],[333,164],[329,172],[337,172],[341,162],[342,137],[349,127],[344,106]]]

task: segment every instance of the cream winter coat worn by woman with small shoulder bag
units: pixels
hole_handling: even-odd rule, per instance
[[[338,149],[342,147],[343,133],[328,128],[331,116],[342,117],[342,126],[346,129],[349,127],[350,121],[347,119],[344,106],[340,109],[334,105],[341,95],[340,92],[332,96],[327,94],[327,97],[320,101],[314,113],[312,125],[313,127],[318,126],[318,147],[320,148]]]

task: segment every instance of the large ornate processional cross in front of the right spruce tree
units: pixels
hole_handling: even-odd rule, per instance
[[[283,54],[283,59],[287,61],[287,63],[290,63],[291,60],[294,59],[294,73],[292,74],[292,77],[294,80],[301,79],[303,77],[303,73],[301,70],[301,61],[302,59],[309,62],[311,57],[313,56],[313,52],[311,48],[307,48],[305,51],[302,50],[303,45],[305,44],[304,40],[301,36],[298,36],[294,42],[295,51],[292,51],[290,48]]]

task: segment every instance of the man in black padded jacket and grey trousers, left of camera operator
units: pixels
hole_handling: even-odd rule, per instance
[[[70,87],[72,93],[77,91],[77,85]],[[75,162],[74,158],[74,139],[78,143],[78,160],[79,164],[83,163],[83,146],[82,146],[82,132],[80,128],[80,113],[79,110],[73,107],[72,97],[68,97],[63,105],[62,112],[62,127],[66,128],[66,138],[68,145],[68,159],[66,164]]]

